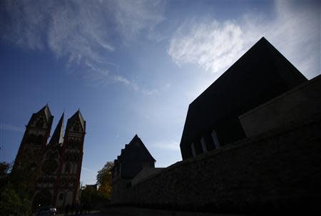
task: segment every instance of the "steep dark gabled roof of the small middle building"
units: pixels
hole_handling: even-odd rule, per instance
[[[139,160],[139,161],[150,161],[156,160],[153,158],[151,153],[144,145],[141,138],[136,134],[130,143],[125,145],[125,148],[121,150],[121,155],[117,157],[118,160]]]

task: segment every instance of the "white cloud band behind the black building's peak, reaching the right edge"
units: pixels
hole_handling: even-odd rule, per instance
[[[310,3],[275,1],[272,19],[248,13],[238,21],[187,22],[173,35],[168,54],[178,66],[196,63],[220,75],[265,36],[305,76],[312,78],[320,73],[320,3]]]

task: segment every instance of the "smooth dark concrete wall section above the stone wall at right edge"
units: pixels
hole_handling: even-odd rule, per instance
[[[240,115],[247,137],[321,115],[321,75]]]

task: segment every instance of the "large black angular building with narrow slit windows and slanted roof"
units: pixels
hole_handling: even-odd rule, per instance
[[[183,160],[246,138],[239,116],[307,81],[265,38],[250,48],[188,107]]]

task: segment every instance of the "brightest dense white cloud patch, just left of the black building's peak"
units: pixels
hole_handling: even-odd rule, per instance
[[[193,26],[186,32],[187,26]],[[243,31],[234,21],[180,26],[170,41],[169,55],[175,63],[198,63],[208,71],[229,66],[243,51]]]

